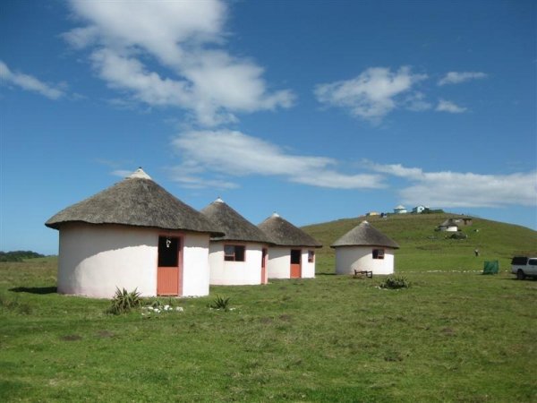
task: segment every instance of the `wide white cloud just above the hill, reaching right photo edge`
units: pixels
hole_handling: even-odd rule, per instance
[[[411,182],[399,194],[408,204],[435,207],[537,207],[537,172],[482,175],[459,172],[423,172],[399,164],[367,163],[375,172],[398,176]]]

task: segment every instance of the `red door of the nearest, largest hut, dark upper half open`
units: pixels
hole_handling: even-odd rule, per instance
[[[157,295],[181,296],[183,268],[181,240],[175,236],[158,236]]]

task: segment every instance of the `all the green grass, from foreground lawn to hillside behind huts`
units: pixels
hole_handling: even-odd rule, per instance
[[[328,244],[352,221],[308,230]],[[535,232],[480,220],[456,244],[403,219],[371,222],[401,244],[397,276],[411,287],[335,276],[323,249],[317,279],[111,315],[109,300],[57,295],[53,258],[0,263],[0,400],[536,401],[537,281],[506,272]],[[492,259],[499,275],[469,271]],[[217,296],[231,308],[210,309]]]

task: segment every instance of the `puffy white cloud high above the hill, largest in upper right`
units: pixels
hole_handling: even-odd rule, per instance
[[[408,94],[417,82],[426,78],[427,75],[413,74],[405,66],[395,73],[388,68],[371,67],[352,80],[320,84],[315,88],[315,95],[321,103],[343,107],[351,115],[375,122],[396,107],[405,107],[405,101],[398,97]],[[422,110],[429,107],[422,100],[421,93],[411,99],[414,102],[410,108]]]

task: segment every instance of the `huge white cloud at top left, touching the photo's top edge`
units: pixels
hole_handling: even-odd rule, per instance
[[[222,49],[227,7],[220,0],[71,4],[87,25],[64,38],[73,47],[91,47],[98,76],[133,99],[183,108],[206,126],[294,103],[290,90],[268,90],[262,67]]]

